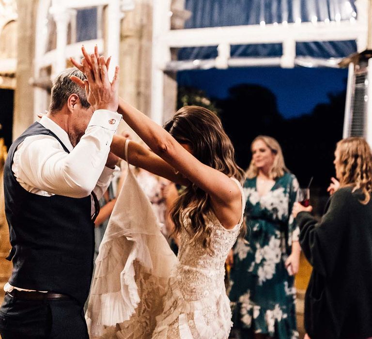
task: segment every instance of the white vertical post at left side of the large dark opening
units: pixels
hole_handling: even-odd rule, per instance
[[[171,30],[171,0],[153,0],[153,55],[151,77],[151,119],[163,123],[164,72],[171,51],[162,38]]]

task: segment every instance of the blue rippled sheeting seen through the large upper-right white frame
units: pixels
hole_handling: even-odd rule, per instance
[[[342,21],[356,17],[355,0],[186,0],[191,17],[185,28],[257,25],[283,21]],[[296,55],[312,58],[343,58],[356,52],[355,41],[296,44]],[[233,45],[232,57],[280,57],[281,44]],[[212,59],[217,46],[184,47],[178,60]]]

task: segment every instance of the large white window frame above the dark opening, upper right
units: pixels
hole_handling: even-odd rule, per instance
[[[296,42],[356,40],[358,52],[366,49],[368,36],[368,0],[357,0],[357,18],[350,21],[304,22],[227,26],[171,30],[171,0],[153,1],[153,59],[151,118],[163,122],[165,71],[181,69],[181,63],[171,61],[171,48],[218,46],[218,56],[212,67],[295,65]],[[282,43],[280,58],[230,58],[231,45]],[[211,66],[211,61],[209,67]],[[213,62],[213,61],[212,61]],[[201,68],[201,61],[191,61],[188,69]],[[336,64],[337,65],[337,64]],[[330,64],[329,66],[336,66]],[[185,62],[182,65],[185,68]]]

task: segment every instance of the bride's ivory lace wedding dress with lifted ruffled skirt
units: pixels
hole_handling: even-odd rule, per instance
[[[224,263],[243,213],[231,230],[213,213],[205,218],[212,224],[211,250],[190,241],[186,218],[177,260],[128,170],[96,260],[86,314],[91,338],[228,338],[232,322]]]

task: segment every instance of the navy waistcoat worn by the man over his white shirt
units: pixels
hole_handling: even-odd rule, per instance
[[[27,192],[12,172],[18,145],[29,136],[48,135],[33,123],[9,148],[4,167],[5,213],[13,261],[10,284],[19,288],[68,294],[84,305],[92,280],[94,224],[91,197],[51,197]]]

